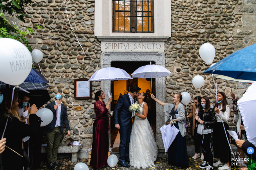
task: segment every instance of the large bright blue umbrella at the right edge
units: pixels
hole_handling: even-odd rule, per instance
[[[256,44],[234,52],[203,73],[256,81]]]

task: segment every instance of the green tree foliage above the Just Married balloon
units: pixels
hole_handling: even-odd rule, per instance
[[[29,41],[26,40],[25,36],[30,33],[33,35],[33,29],[27,27],[27,31],[20,30],[16,25],[12,25],[4,16],[10,15],[12,17],[17,17],[19,20],[25,22],[25,7],[31,0],[0,0],[0,38],[11,38],[25,43],[29,51],[32,48],[29,46]],[[37,29],[43,29],[41,25],[36,24],[34,26]]]

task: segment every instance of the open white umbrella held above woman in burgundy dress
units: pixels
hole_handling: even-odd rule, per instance
[[[129,80],[131,76],[121,68],[108,67],[97,70],[89,79],[89,81],[102,80]]]

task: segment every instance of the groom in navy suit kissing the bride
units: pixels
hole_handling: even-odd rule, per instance
[[[116,128],[120,129],[120,158],[118,164],[123,167],[129,167],[125,162],[130,162],[129,145],[132,130],[132,112],[128,109],[131,104],[135,103],[134,98],[137,98],[139,94],[140,88],[138,86],[133,86],[128,94],[119,97],[114,110],[114,124]]]

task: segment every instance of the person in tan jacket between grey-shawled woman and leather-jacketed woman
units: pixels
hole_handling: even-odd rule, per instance
[[[198,111],[199,111],[199,107],[200,105],[200,101],[201,101],[201,96],[196,96],[194,98],[194,104],[192,105],[192,110],[190,112],[190,114],[187,116],[187,118],[192,118],[192,135],[193,138],[195,140],[195,155],[192,157],[193,159],[197,159],[200,157],[200,147],[202,147],[202,140],[200,140],[200,138],[197,138],[197,126],[198,123],[195,122],[195,116],[198,115]],[[201,154],[201,160],[204,160],[204,154]]]

